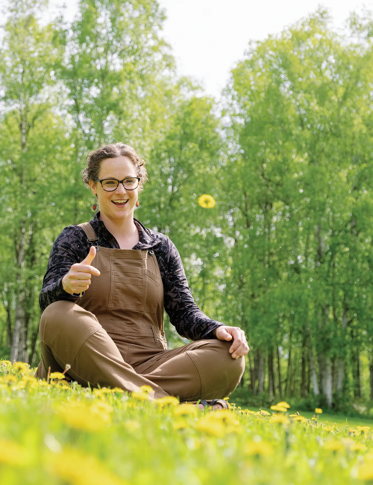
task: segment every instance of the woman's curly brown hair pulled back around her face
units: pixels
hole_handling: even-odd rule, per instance
[[[91,152],[87,157],[87,166],[83,170],[82,180],[89,186],[89,181],[98,178],[101,161],[106,158],[115,158],[123,155],[128,157],[136,168],[137,176],[140,177],[139,193],[143,189],[143,185],[148,180],[148,174],[145,168],[145,162],[140,155],[135,151],[135,148],[124,143],[111,143],[109,145],[100,146],[97,150]]]

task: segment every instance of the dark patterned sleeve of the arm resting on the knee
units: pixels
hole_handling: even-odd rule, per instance
[[[208,318],[197,307],[188,287],[176,246],[168,239],[169,261],[163,280],[165,310],[178,334],[191,340],[216,339],[213,330],[224,323]]]

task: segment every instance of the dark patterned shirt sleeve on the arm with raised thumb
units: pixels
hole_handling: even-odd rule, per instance
[[[65,227],[53,244],[39,296],[42,311],[51,303],[59,300],[75,303],[80,299],[79,295],[71,295],[64,291],[62,278],[74,263],[82,261],[87,256],[89,243],[82,232],[74,226]]]

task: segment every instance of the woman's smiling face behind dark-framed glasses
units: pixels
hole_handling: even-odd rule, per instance
[[[128,157],[121,155],[115,158],[106,158],[101,161],[98,177],[124,178],[137,177],[136,168]],[[112,192],[105,191],[97,180],[90,180],[93,194],[97,194],[101,213],[110,220],[120,222],[127,217],[133,217],[133,211],[138,199],[138,189],[126,190],[123,184],[119,184]]]

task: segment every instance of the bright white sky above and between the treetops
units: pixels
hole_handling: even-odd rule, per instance
[[[219,97],[229,71],[242,59],[249,40],[276,34],[314,12],[320,0],[158,0],[166,9],[163,36],[171,44],[178,74],[199,81],[207,94]],[[50,11],[61,0],[50,0]],[[72,20],[77,0],[64,0],[65,17]],[[354,9],[373,9],[373,0],[324,0],[335,29]]]

